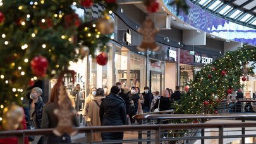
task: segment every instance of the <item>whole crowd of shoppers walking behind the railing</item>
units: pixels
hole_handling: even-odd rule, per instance
[[[85,97],[85,105],[82,116],[86,121],[86,126],[109,126],[109,125],[129,125],[135,123],[135,114],[149,113],[159,106],[160,111],[171,109],[171,102],[178,101],[181,97],[180,87],[176,86],[175,91],[166,89],[160,94],[159,91],[151,92],[150,87],[145,86],[140,93],[139,87],[124,89],[121,82],[116,82],[116,86],[111,87],[111,91],[106,96],[102,88],[92,87],[90,93]],[[66,93],[68,97],[68,92]],[[70,92],[75,97],[75,102],[82,99],[80,84],[76,84],[75,89]],[[51,89],[51,96],[47,104],[42,101],[42,89],[34,87],[30,93],[28,107],[25,109],[25,118],[30,121],[30,128],[56,128],[58,117],[54,114],[54,109],[59,109],[59,87],[55,85]],[[68,99],[70,104],[71,99]],[[27,110],[26,110],[27,109]],[[68,107],[71,111],[73,106]],[[78,119],[73,118],[73,125],[80,126]],[[28,123],[27,123],[28,124]],[[26,127],[27,127],[26,126]],[[30,143],[38,143],[42,136],[35,136]],[[115,133],[88,133],[87,142],[102,140],[122,140],[123,132]],[[1,141],[1,139],[0,139]],[[47,143],[71,143],[70,135],[63,136],[48,135]]]

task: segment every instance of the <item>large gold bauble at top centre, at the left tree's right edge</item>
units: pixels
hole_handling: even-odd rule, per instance
[[[96,28],[102,35],[110,35],[114,32],[114,21],[109,16],[104,16],[97,21]]]

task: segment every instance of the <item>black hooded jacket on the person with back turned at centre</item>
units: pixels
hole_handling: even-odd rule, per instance
[[[100,119],[102,126],[125,125],[125,101],[116,94],[110,93],[109,96],[101,102]]]

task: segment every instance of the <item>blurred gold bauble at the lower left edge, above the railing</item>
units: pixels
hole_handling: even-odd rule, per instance
[[[16,104],[11,104],[3,109],[2,125],[4,130],[16,130],[23,119],[23,108]]]

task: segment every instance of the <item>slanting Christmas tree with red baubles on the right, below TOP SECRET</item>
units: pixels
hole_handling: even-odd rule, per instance
[[[242,81],[254,75],[256,49],[246,45],[235,51],[228,51],[212,64],[205,65],[195,79],[188,83],[189,89],[174,107],[177,113],[217,113],[219,103],[229,94],[243,87]],[[249,65],[252,62],[252,65]]]

